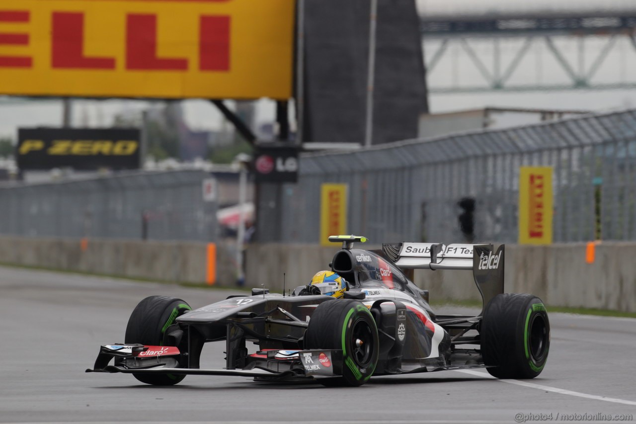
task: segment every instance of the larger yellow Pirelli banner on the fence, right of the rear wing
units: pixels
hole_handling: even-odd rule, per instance
[[[552,243],[552,168],[519,169],[519,244]]]

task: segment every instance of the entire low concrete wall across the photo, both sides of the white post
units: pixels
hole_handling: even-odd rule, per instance
[[[205,282],[205,243],[0,237],[0,262],[92,272],[157,281]],[[373,248],[373,246],[365,246]],[[378,246],[375,246],[378,247]],[[231,247],[217,246],[217,284],[232,286],[236,269]],[[307,284],[329,269],[338,250],[313,244],[250,244],[245,255],[247,286],[270,290]],[[533,293],[548,306],[636,312],[636,243],[603,243],[593,264],[585,244],[506,245],[506,292]],[[415,283],[431,300],[480,300],[468,271],[416,271]]]

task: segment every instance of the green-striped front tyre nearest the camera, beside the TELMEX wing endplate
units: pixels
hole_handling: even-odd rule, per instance
[[[363,332],[370,346],[363,360],[354,353],[355,334]],[[321,378],[325,386],[361,386],[378,364],[378,329],[369,309],[354,299],[322,302],[312,315],[305,333],[306,349],[342,350],[342,377]]]

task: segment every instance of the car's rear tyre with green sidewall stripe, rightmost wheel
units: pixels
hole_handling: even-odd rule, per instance
[[[481,320],[481,355],[497,378],[535,378],[550,351],[550,320],[541,299],[503,293],[490,300]]]

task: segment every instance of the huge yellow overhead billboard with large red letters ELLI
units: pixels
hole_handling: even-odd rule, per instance
[[[0,0],[0,94],[291,97],[294,0]]]

